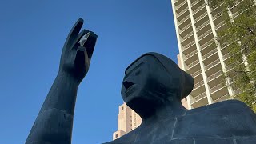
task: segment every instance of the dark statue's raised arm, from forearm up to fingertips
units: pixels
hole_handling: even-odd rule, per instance
[[[26,144],[71,143],[74,106],[80,82],[86,76],[97,35],[75,23],[62,49],[58,75],[36,118]]]

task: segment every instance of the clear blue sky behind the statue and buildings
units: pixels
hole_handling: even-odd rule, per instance
[[[0,143],[26,142],[78,18],[98,40],[78,87],[74,144],[112,140],[124,71],[136,58],[158,52],[177,62],[170,0],[1,1]]]

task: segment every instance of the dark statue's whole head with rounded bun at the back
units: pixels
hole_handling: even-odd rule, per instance
[[[127,106],[140,114],[166,103],[181,102],[193,86],[190,74],[186,74],[170,58],[147,53],[127,67],[121,94]]]

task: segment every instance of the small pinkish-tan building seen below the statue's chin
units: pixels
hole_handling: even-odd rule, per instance
[[[131,110],[126,103],[123,103],[119,106],[118,130],[114,132],[113,140],[136,129],[141,123],[142,118],[134,110]]]

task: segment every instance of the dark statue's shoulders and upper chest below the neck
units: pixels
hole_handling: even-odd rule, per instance
[[[142,125],[112,143],[124,144],[256,143],[256,116],[246,104],[231,100],[187,110],[182,116]]]

